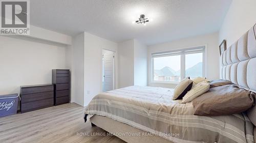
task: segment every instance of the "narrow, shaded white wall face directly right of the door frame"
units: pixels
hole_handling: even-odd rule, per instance
[[[134,85],[134,40],[118,43],[118,88]]]

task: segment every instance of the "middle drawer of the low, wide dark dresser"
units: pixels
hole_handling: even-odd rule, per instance
[[[53,98],[54,92],[41,92],[41,93],[32,93],[32,94],[22,94],[21,95],[21,102],[31,102],[31,101],[37,101],[37,100],[43,100],[43,99],[49,99]]]

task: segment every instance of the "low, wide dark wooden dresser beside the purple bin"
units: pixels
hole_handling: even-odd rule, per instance
[[[53,106],[53,84],[20,87],[20,112],[28,112]]]

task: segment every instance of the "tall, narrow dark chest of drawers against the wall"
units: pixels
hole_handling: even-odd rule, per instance
[[[52,84],[54,84],[54,105],[69,103],[70,101],[70,71],[53,69]]]

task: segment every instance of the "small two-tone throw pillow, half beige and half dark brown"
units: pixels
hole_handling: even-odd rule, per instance
[[[192,88],[193,80],[185,78],[180,81],[174,90],[174,100],[182,99],[183,96]]]

